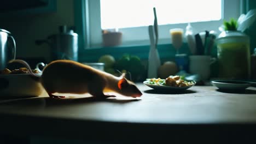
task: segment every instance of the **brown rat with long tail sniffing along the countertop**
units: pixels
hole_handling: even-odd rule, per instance
[[[44,67],[40,76],[32,73],[27,62],[21,59],[14,59],[9,63],[13,62],[24,64],[30,71],[31,76],[40,81],[51,98],[65,98],[65,96],[53,95],[56,92],[89,93],[98,99],[115,97],[115,95],[105,95],[103,92],[117,92],[133,98],[141,97],[142,95],[135,83],[125,78],[125,74],[117,77],[79,62],[71,60],[50,62]]]

